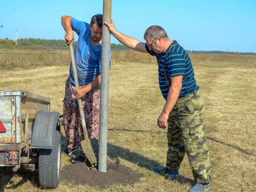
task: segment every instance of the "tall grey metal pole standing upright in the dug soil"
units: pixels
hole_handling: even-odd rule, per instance
[[[110,32],[104,22],[111,23],[112,0],[104,0],[101,54],[101,115],[99,118],[98,171],[107,172],[108,82],[110,67]]]

